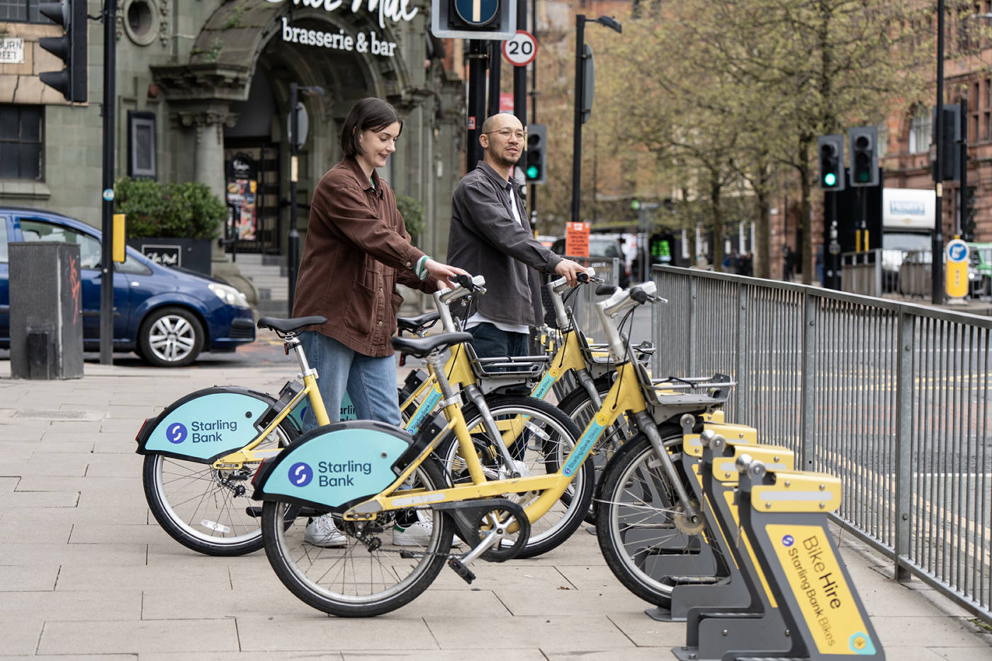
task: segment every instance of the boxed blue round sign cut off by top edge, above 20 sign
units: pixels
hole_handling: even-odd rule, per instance
[[[513,39],[517,0],[432,0],[431,34],[448,39]]]

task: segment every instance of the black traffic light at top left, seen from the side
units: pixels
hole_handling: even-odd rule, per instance
[[[86,102],[86,0],[42,2],[38,11],[61,25],[62,37],[43,37],[38,45],[65,63],[61,71],[42,71],[38,77],[62,92],[66,101]]]

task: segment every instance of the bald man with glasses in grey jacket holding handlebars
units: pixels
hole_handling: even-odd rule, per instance
[[[542,323],[538,274],[556,273],[572,285],[585,272],[534,238],[527,212],[511,182],[513,167],[524,153],[527,133],[510,113],[482,124],[483,160],[458,184],[451,197],[447,263],[486,279],[484,296],[465,330],[479,357],[527,355],[530,327]]]

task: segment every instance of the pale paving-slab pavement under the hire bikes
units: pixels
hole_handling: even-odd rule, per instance
[[[134,437],[145,418],[201,387],[277,392],[296,373],[282,346],[161,369],[118,356],[81,379],[10,378],[0,357],[0,658],[670,659],[681,623],[613,577],[579,530],[530,560],[477,562],[471,586],[445,569],[407,606],[328,617],[290,594],[263,552],[197,555],[156,524]],[[849,533],[841,556],[889,659],[992,660],[992,629]]]

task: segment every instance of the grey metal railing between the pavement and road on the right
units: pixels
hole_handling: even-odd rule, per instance
[[[992,319],[656,267],[655,376],[722,372],[727,420],[842,478],[836,520],[992,622]]]

